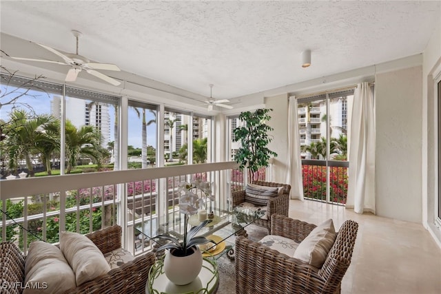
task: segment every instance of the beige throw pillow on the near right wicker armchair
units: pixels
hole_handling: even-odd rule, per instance
[[[330,218],[307,235],[294,252],[293,257],[320,269],[336,240],[336,229]]]

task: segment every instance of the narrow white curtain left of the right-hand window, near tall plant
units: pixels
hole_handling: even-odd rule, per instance
[[[288,108],[288,172],[287,183],[291,185],[291,199],[303,200],[302,158],[300,157],[300,134],[298,132],[297,99],[289,97]]]

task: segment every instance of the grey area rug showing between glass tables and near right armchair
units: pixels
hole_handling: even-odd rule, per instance
[[[258,241],[267,235],[267,230],[250,224],[247,227],[248,239]],[[231,237],[234,238],[234,237]],[[226,254],[218,259],[219,288],[218,294],[236,293],[236,269],[234,260],[229,260]]]

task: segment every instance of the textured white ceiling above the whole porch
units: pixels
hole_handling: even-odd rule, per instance
[[[3,33],[74,52],[70,30],[79,30],[88,59],[204,96],[212,83],[215,98],[418,54],[441,18],[440,1],[1,1],[0,8]],[[300,52],[308,48],[305,69]]]

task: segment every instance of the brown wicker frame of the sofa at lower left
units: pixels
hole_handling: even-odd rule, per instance
[[[85,236],[94,242],[103,255],[121,249],[121,227],[118,225]],[[25,281],[25,261],[26,256],[16,245],[11,242],[0,244],[0,280],[7,285],[19,285],[3,288],[1,293],[22,293],[21,285]],[[145,293],[145,283],[154,262],[154,253],[141,255],[65,293]]]

